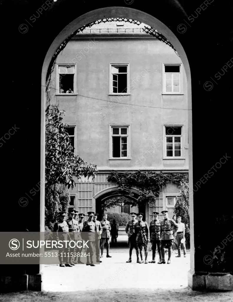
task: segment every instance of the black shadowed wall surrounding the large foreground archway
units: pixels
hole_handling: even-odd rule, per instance
[[[51,43],[67,24],[90,10],[131,7],[166,24],[180,40],[189,60],[193,103],[195,270],[209,270],[200,259],[233,231],[229,191],[232,186],[233,3],[204,2],[134,0],[130,5],[126,0],[1,2],[2,231],[40,230],[40,193],[32,196],[29,192],[37,189],[40,182],[41,70]],[[15,130],[10,130],[13,127]],[[224,156],[227,160],[221,160],[221,167],[215,166]],[[24,197],[28,202],[25,199],[19,202]],[[231,249],[232,244],[228,242],[223,264],[221,268],[216,266],[216,271],[232,271]],[[2,275],[10,275],[25,270],[38,273],[39,267],[31,266],[30,271],[24,266],[2,266],[0,269]]]

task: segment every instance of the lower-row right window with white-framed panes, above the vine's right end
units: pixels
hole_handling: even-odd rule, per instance
[[[183,155],[183,137],[182,126],[164,126],[165,139],[164,139],[164,156],[166,158],[179,158]]]

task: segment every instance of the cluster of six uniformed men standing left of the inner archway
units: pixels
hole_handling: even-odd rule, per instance
[[[109,255],[109,240],[111,225],[107,220],[107,214],[103,215],[103,220],[97,220],[98,213],[88,212],[88,219],[85,221],[85,214],[78,214],[78,211],[72,210],[69,214],[69,218],[65,220],[66,213],[59,213],[59,220],[54,224],[53,233],[56,234],[56,240],[72,240],[77,242],[77,234],[79,232],[88,232],[88,234],[98,233],[99,236],[88,235],[89,249],[87,250],[86,265],[95,266],[94,264],[94,250],[96,254],[96,262],[101,263],[99,258],[103,258],[104,245],[106,243],[107,258],[111,258]],[[85,234],[84,234],[85,235]],[[84,236],[83,236],[84,237]],[[81,239],[82,236],[79,238]],[[99,239],[100,239],[100,249],[99,249]],[[63,248],[58,252],[58,258],[60,261],[60,267],[72,267],[76,264],[84,264],[81,261],[82,248]],[[101,250],[101,255],[99,250]],[[84,253],[83,253],[84,254]],[[83,258],[82,258],[83,259]]]

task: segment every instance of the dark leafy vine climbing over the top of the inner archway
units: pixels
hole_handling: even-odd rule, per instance
[[[165,187],[168,182],[176,183],[188,182],[188,173],[163,173],[154,171],[136,171],[132,173],[112,172],[108,176],[108,182],[115,182],[118,185],[118,194],[132,196],[132,187],[137,187],[140,195],[137,201],[131,201],[131,204],[141,206],[147,202],[150,205],[156,205],[156,198],[159,191]]]

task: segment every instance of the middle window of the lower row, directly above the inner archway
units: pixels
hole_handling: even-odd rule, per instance
[[[129,126],[110,126],[111,143],[110,158],[111,159],[127,159],[129,158]]]

